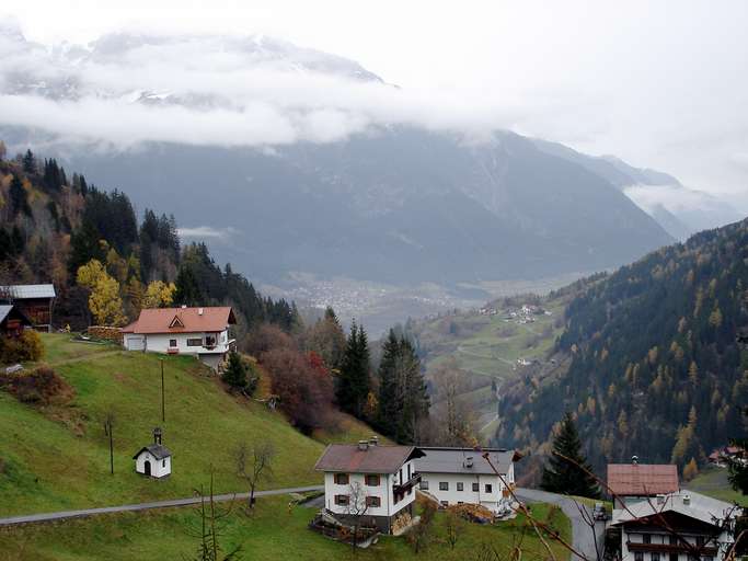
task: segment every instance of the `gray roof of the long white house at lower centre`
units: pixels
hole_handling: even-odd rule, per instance
[[[502,476],[509,471],[514,461],[520,458],[515,450],[504,448],[421,448],[426,455],[415,461],[415,469],[419,473],[476,473],[493,476],[495,472],[483,457],[488,453],[491,462]],[[467,467],[465,459],[472,458],[472,467]]]

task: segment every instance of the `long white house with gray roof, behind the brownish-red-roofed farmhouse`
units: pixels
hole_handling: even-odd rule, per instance
[[[442,506],[480,504],[495,513],[500,511],[499,503],[509,496],[507,485],[514,485],[515,462],[521,458],[515,450],[503,448],[421,449],[424,456],[415,466],[423,492]],[[484,454],[488,454],[491,461],[483,457]]]

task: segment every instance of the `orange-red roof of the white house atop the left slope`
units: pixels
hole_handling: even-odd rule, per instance
[[[202,311],[202,313],[200,313]],[[176,321],[175,321],[176,319]],[[147,308],[123,333],[195,333],[223,331],[237,323],[229,306],[215,308]]]

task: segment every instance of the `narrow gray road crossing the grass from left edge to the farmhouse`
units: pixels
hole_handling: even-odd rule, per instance
[[[288,493],[303,493],[307,491],[322,491],[323,489],[324,486],[322,485],[273,489],[271,491],[257,491],[254,493],[254,496],[284,495]],[[215,495],[214,501],[231,501],[233,499],[242,500],[249,499],[249,493]],[[95,516],[97,514],[148,511],[150,508],[168,508],[170,506],[188,506],[191,504],[198,504],[199,502],[199,496],[191,496],[189,499],[172,499],[170,501],[157,501],[153,503],[124,504],[119,506],[104,506],[102,508],[83,508],[81,511],[61,511],[57,513],[28,514],[24,516],[11,516],[8,518],[0,518],[0,526],[12,526],[15,524],[28,524],[35,522],[60,520],[66,518],[82,518],[84,516]]]

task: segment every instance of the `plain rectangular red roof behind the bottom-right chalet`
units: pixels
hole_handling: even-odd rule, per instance
[[[678,468],[658,463],[608,463],[608,486],[617,495],[658,495],[680,489]]]

